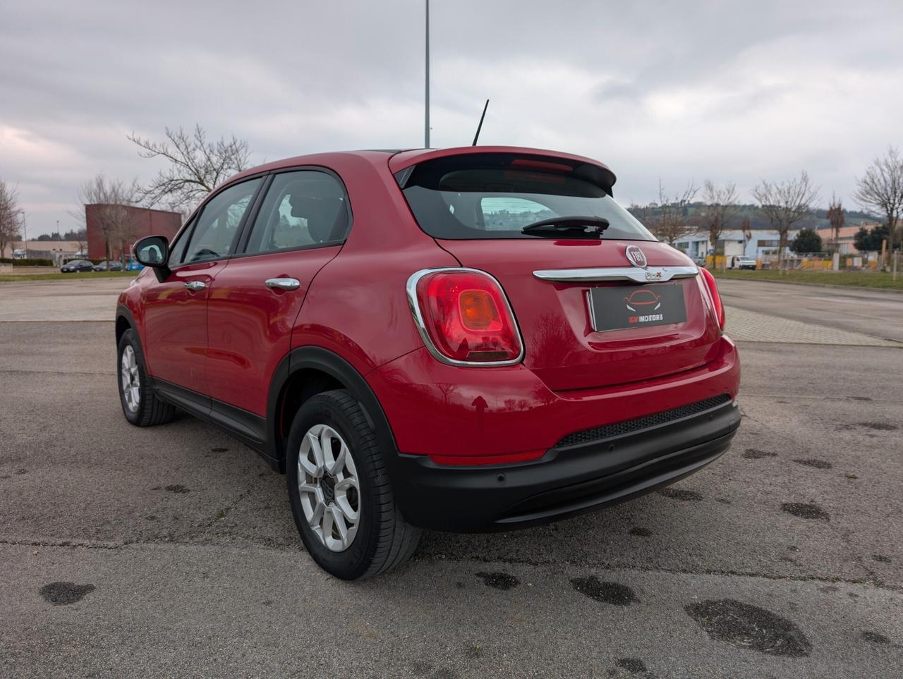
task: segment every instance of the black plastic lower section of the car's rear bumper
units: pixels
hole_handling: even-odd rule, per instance
[[[402,455],[404,480],[394,484],[396,498],[408,521],[432,530],[544,524],[635,498],[702,469],[727,451],[740,411],[728,398],[644,426],[650,421],[655,418],[640,418],[638,429],[556,446],[540,460],[516,465],[448,467]]]

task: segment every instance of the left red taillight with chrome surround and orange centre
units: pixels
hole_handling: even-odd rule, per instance
[[[424,344],[454,365],[517,363],[524,345],[501,285],[476,269],[424,269],[407,282],[408,302]]]

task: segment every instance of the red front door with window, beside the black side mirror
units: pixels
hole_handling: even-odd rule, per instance
[[[263,183],[257,177],[210,198],[173,243],[168,269],[144,292],[144,355],[154,379],[208,395],[207,300]]]

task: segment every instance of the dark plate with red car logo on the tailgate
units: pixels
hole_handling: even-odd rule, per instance
[[[590,288],[587,302],[596,332],[686,321],[684,286],[679,283]]]

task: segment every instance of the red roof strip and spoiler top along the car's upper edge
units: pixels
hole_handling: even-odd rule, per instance
[[[578,163],[588,163],[599,167],[605,173],[610,179],[609,185],[614,184],[616,181],[614,172],[611,172],[610,168],[604,163],[600,163],[599,161],[582,155],[574,155],[573,153],[563,153],[561,151],[550,151],[548,149],[537,149],[524,146],[456,146],[444,149],[368,149],[361,151],[335,151],[329,153],[296,155],[291,158],[283,158],[282,160],[249,168],[244,172],[239,172],[235,176],[230,177],[227,181],[223,182],[223,184],[225,185],[253,174],[259,174],[260,172],[272,172],[274,170],[283,170],[299,165],[323,165],[325,167],[330,167],[333,163],[342,158],[348,158],[348,156],[356,156],[368,163],[382,167],[385,167],[386,163],[388,163],[389,170],[395,173],[404,170],[411,165],[423,163],[424,161],[469,153],[518,153],[524,155],[543,155],[551,158],[576,161]]]

